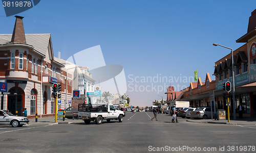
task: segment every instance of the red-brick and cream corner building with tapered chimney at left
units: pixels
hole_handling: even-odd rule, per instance
[[[53,116],[52,84],[60,83],[61,92],[66,90],[64,65],[54,60],[50,34],[25,34],[23,17],[15,17],[13,34],[0,35],[1,109],[23,116],[27,108],[30,118],[36,111],[41,117]],[[71,94],[70,85],[68,89]]]

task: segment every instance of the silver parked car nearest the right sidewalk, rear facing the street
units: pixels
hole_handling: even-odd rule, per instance
[[[214,112],[214,111],[212,111],[212,112]],[[195,111],[191,111],[190,117],[191,118],[202,118],[202,119],[211,118],[210,107],[201,107],[201,108],[196,109]]]

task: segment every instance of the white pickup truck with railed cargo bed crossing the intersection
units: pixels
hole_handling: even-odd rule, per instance
[[[112,104],[79,104],[77,116],[86,124],[89,124],[91,121],[101,124],[103,119],[106,119],[108,122],[112,119],[122,122],[125,112],[116,110]]]

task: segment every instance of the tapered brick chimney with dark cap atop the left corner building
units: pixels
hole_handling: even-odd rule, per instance
[[[23,21],[22,19],[24,17],[22,16],[15,16],[16,21],[12,33],[12,40],[11,43],[26,43],[26,38],[25,38],[25,32],[24,32],[24,27],[23,27]]]

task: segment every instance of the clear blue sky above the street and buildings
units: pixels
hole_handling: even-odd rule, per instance
[[[255,6],[251,0],[44,0],[16,15],[24,17],[26,34],[51,34],[55,57],[60,52],[67,60],[100,45],[105,64],[123,67],[131,105],[145,107],[166,99],[170,84],[176,91],[188,87],[197,69],[202,82],[207,72],[216,80],[215,62],[230,50],[212,44],[242,46],[236,40],[247,33]],[[12,34],[14,16],[0,7],[0,34]]]

